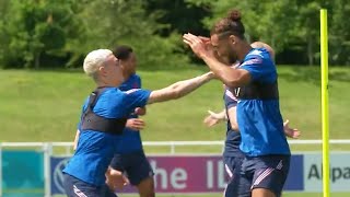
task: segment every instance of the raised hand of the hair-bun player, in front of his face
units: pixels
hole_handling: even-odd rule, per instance
[[[213,55],[212,48],[210,47],[210,42],[208,43],[205,37],[200,38],[198,36],[195,36],[194,34],[187,33],[183,35],[183,40],[192,49],[192,51],[199,58]]]

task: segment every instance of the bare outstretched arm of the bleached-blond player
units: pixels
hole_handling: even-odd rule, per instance
[[[207,83],[212,78],[213,78],[213,73],[208,72],[197,78],[179,81],[167,88],[152,91],[148,100],[148,104],[165,102],[165,101],[183,97],[189,94],[190,92],[195,91],[202,84]]]

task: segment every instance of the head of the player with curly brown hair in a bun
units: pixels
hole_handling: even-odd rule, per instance
[[[241,13],[232,10],[226,18],[218,21],[210,32],[211,44],[220,57],[230,59],[233,63],[237,60],[237,50],[245,42],[245,28],[241,22]],[[246,43],[246,42],[245,42]]]

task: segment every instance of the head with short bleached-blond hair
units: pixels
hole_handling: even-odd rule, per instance
[[[118,86],[124,81],[119,60],[108,49],[89,53],[83,67],[97,84]]]

